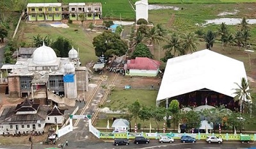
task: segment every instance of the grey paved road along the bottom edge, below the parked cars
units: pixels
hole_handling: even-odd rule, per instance
[[[92,137],[92,136],[88,136]],[[72,139],[72,138],[70,138]],[[19,146],[19,147],[18,147]],[[33,148],[50,148],[53,147],[52,145],[40,145],[36,144],[33,145]],[[256,146],[255,143],[250,144],[241,144],[239,142],[226,142],[223,144],[208,144],[204,141],[198,141],[197,143],[180,143],[179,141],[176,141],[175,143],[158,143],[157,140],[150,140],[150,143],[147,144],[141,144],[141,145],[135,145],[131,142],[128,146],[113,146],[112,142],[103,142],[102,140],[96,139],[93,141],[92,138],[84,139],[83,142],[70,142],[69,146],[65,147],[67,149],[125,149],[125,148],[141,148],[141,149],[169,149],[169,148],[175,148],[175,149],[246,149],[246,148],[252,148],[253,146]],[[30,145],[12,145],[12,146],[1,146],[1,148],[20,148],[20,149],[29,149]]]

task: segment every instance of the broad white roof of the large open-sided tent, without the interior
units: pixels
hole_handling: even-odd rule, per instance
[[[191,91],[208,90],[234,97],[234,88],[246,77],[244,63],[208,49],[168,59],[156,100]]]

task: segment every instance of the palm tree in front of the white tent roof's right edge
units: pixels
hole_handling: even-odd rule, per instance
[[[236,95],[234,97],[235,101],[239,100],[239,104],[240,104],[240,113],[243,113],[243,103],[247,102],[250,103],[252,101],[252,97],[250,95],[250,89],[249,89],[249,84],[246,81],[246,79],[243,77],[241,79],[241,84],[238,84],[237,82],[235,82],[235,84],[237,84],[238,88],[235,88],[235,92],[234,94]]]

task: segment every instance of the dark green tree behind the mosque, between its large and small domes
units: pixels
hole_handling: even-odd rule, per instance
[[[52,42],[51,47],[56,51],[57,56],[68,58],[68,52],[72,48],[72,43],[67,38],[59,36],[56,41]]]

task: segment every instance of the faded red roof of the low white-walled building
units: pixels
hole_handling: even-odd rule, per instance
[[[131,59],[131,63],[127,63],[127,69],[157,70],[160,65],[160,61],[138,57]]]

